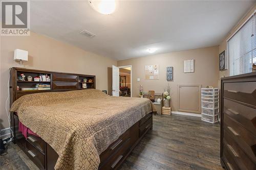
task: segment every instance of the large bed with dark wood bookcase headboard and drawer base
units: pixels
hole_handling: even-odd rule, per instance
[[[12,87],[16,87],[18,80],[13,77],[18,72],[33,71],[13,69]],[[14,142],[40,169],[117,169],[152,129],[155,109],[151,101],[109,96],[95,88],[71,90],[63,86],[55,90],[53,76],[74,74],[48,72],[53,81],[50,91],[12,97]],[[78,76],[75,81],[79,80]],[[13,89],[11,93],[18,96]],[[33,133],[25,138],[18,123]]]

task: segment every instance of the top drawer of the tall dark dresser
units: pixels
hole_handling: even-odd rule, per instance
[[[224,97],[256,107],[256,82],[224,83],[223,86]]]

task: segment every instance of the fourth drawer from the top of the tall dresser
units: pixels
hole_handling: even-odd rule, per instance
[[[256,164],[248,155],[239,147],[239,145],[230,137],[230,135],[224,130],[224,149],[230,153],[232,159],[237,162],[240,169],[256,169]]]

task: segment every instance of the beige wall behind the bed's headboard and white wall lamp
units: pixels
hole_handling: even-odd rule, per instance
[[[36,33],[31,33],[30,36],[3,36],[0,43],[1,129],[8,127],[5,111],[5,100],[8,95],[8,69],[18,65],[18,62],[13,60],[13,51],[16,48],[29,52],[29,61],[24,62],[26,68],[96,75],[96,88],[100,90],[108,89],[107,67],[117,64],[113,59],[86,52]]]

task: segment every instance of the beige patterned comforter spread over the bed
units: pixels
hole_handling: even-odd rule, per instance
[[[99,155],[155,109],[148,99],[88,89],[24,95],[11,111],[57,152],[55,169],[97,169]]]

